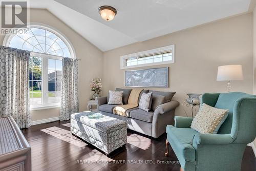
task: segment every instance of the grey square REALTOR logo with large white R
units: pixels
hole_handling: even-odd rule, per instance
[[[1,29],[27,26],[27,1],[2,1],[1,6]]]

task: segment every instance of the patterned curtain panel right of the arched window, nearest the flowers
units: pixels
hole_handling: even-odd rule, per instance
[[[60,120],[69,120],[70,115],[78,112],[78,62],[77,59],[62,59],[62,84]]]

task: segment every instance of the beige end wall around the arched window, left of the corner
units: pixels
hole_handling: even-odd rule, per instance
[[[87,100],[93,94],[90,90],[91,79],[102,77],[103,53],[47,10],[31,9],[30,22],[52,26],[71,41],[76,57],[82,59],[78,61],[79,109],[80,111],[86,110]],[[3,42],[3,39],[4,36],[0,36],[0,42]],[[59,108],[31,111],[31,115],[32,121],[57,117],[59,116]]]

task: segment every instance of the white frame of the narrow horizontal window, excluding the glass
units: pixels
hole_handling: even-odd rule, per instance
[[[126,60],[129,58],[136,58],[136,57],[141,57],[141,56],[145,56],[145,55],[163,53],[166,51],[172,51],[172,60],[144,63],[144,64],[140,64],[140,65],[135,65],[135,66],[126,66]],[[142,51],[142,52],[138,52],[138,53],[120,56],[120,69],[157,66],[157,65],[164,65],[164,64],[169,64],[169,63],[175,63],[175,45],[169,45],[169,46],[165,46],[165,47],[161,47],[161,48],[156,48],[156,49],[151,49],[151,50],[147,50],[147,51]]]

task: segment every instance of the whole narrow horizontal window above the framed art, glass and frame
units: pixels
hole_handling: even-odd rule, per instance
[[[174,63],[174,45],[121,56],[120,68],[136,68]]]

